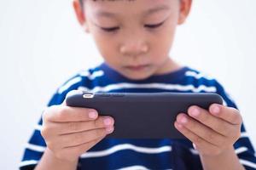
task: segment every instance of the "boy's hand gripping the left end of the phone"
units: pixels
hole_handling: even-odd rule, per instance
[[[77,161],[79,156],[113,132],[113,118],[98,116],[92,109],[49,107],[43,114],[41,134],[54,156],[64,161]]]

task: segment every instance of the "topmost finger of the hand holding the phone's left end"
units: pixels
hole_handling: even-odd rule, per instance
[[[97,116],[94,109],[53,105],[44,111],[43,119],[48,122],[83,122],[95,120]]]

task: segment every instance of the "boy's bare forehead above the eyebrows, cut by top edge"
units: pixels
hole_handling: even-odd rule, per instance
[[[114,17],[120,14],[148,15],[173,8],[175,0],[87,0],[86,12],[98,17]]]

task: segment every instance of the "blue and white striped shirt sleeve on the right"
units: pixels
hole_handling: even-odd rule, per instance
[[[218,94],[220,94],[224,99],[224,105],[238,109],[234,100],[231,99],[230,95],[226,93],[224,88],[219,83],[217,89]],[[256,170],[255,150],[246,132],[244,123],[241,125],[241,137],[234,144],[234,148],[241,164],[247,170]]]

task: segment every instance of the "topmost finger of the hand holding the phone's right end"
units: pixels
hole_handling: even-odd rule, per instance
[[[241,115],[238,110],[224,105],[212,104],[209,108],[210,113],[213,116],[218,116],[226,122],[230,122],[234,125],[241,125]]]

